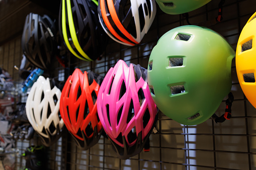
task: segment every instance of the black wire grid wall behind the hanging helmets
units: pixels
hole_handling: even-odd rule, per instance
[[[189,13],[189,22],[205,26],[221,34],[236,49],[240,32],[256,11],[254,0],[227,0],[223,6],[223,20],[214,23],[218,15],[219,1],[211,1],[206,6]],[[28,12],[29,13],[29,12]],[[54,61],[54,77],[65,81],[75,68],[94,71],[105,76],[119,59],[127,64],[140,64],[147,68],[151,50],[157,40],[167,31],[188,25],[183,15],[167,15],[157,7],[156,18],[142,42],[134,47],[120,45],[112,40],[105,50],[102,60],[84,62],[73,56],[68,58],[68,68],[64,69]],[[2,66],[21,81],[13,66],[21,62],[20,39],[0,47]],[[199,50],[199,49],[195,49]],[[10,58],[14,53],[14,60]],[[15,54],[17,53],[17,54]],[[9,59],[7,59],[9,58]],[[256,169],[256,116],[255,108],[244,96],[236,75],[235,59],[232,62],[232,89],[234,102],[232,118],[223,123],[211,119],[196,125],[177,123],[160,113],[155,134],[150,135],[150,151],[141,152],[129,159],[121,160],[112,149],[110,141],[101,137],[98,144],[88,150],[80,150],[71,135],[65,132],[60,140],[48,148],[49,169]],[[200,89],[199,89],[200,90]],[[227,97],[226,97],[227,98]],[[216,111],[225,112],[225,100]],[[184,106],[186,107],[186,106]],[[39,144],[36,136],[32,141],[17,142],[23,152],[31,144]],[[16,167],[24,166],[24,159],[17,157]]]

